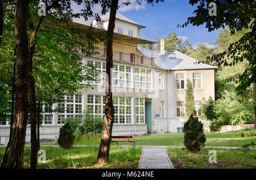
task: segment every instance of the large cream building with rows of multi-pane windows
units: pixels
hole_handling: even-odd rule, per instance
[[[85,22],[74,19],[74,27],[88,29],[90,24],[97,31],[108,28],[109,13],[102,22]],[[143,135],[147,131],[157,133],[182,132],[185,120],[186,80],[193,82],[195,115],[199,115],[199,102],[203,97],[214,98],[214,69],[216,67],[196,63],[177,50],[164,50],[160,41],[158,50],[142,48],[142,44],[154,44],[140,38],[143,25],[117,13],[113,35],[112,89],[114,102],[113,135]],[[65,103],[55,104],[64,113],[43,114],[40,127],[41,139],[55,139],[65,118],[80,118],[88,110],[94,117],[103,118],[105,111],[106,47],[97,45],[99,54],[86,57],[80,53],[83,63],[91,63],[100,72],[96,81],[89,82],[93,88],[80,89],[76,95],[67,95]],[[44,108],[44,107],[43,107]],[[207,122],[203,121],[207,126]],[[0,125],[1,144],[9,141],[9,122]],[[30,142],[30,127],[26,141]]]

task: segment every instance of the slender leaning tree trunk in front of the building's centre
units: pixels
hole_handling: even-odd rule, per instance
[[[105,117],[101,133],[101,143],[98,149],[97,165],[107,165],[109,162],[109,149],[111,143],[113,119],[114,119],[114,106],[111,92],[111,77],[110,72],[113,68],[113,33],[115,27],[115,15],[117,14],[118,0],[113,0],[110,8],[109,25],[107,31],[106,40],[106,83],[105,83],[105,97],[106,97],[106,108]]]

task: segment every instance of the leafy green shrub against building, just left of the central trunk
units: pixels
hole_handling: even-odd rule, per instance
[[[94,118],[86,111],[85,115],[82,117],[82,125],[79,127],[81,134],[86,134],[88,132],[93,132],[94,134],[101,133],[103,126],[102,118]]]

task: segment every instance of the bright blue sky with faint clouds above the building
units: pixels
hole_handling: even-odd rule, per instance
[[[134,22],[146,26],[141,29],[141,38],[154,40],[154,36],[164,37],[174,31],[183,40],[191,42],[192,46],[201,42],[203,44],[215,42],[218,32],[208,32],[205,25],[199,27],[189,24],[184,28],[177,28],[187,18],[193,16],[196,6],[188,4],[187,0],[166,0],[152,5],[142,5],[141,8],[120,8],[120,14]]]

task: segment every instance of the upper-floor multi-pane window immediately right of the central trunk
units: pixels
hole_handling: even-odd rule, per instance
[[[113,65],[113,86],[131,87],[131,67]]]

